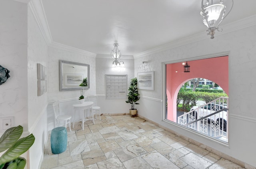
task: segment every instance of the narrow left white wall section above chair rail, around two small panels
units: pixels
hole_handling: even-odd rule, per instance
[[[42,64],[48,72],[48,46],[38,24],[28,8],[28,128],[47,105],[48,92],[37,95],[37,64]]]

